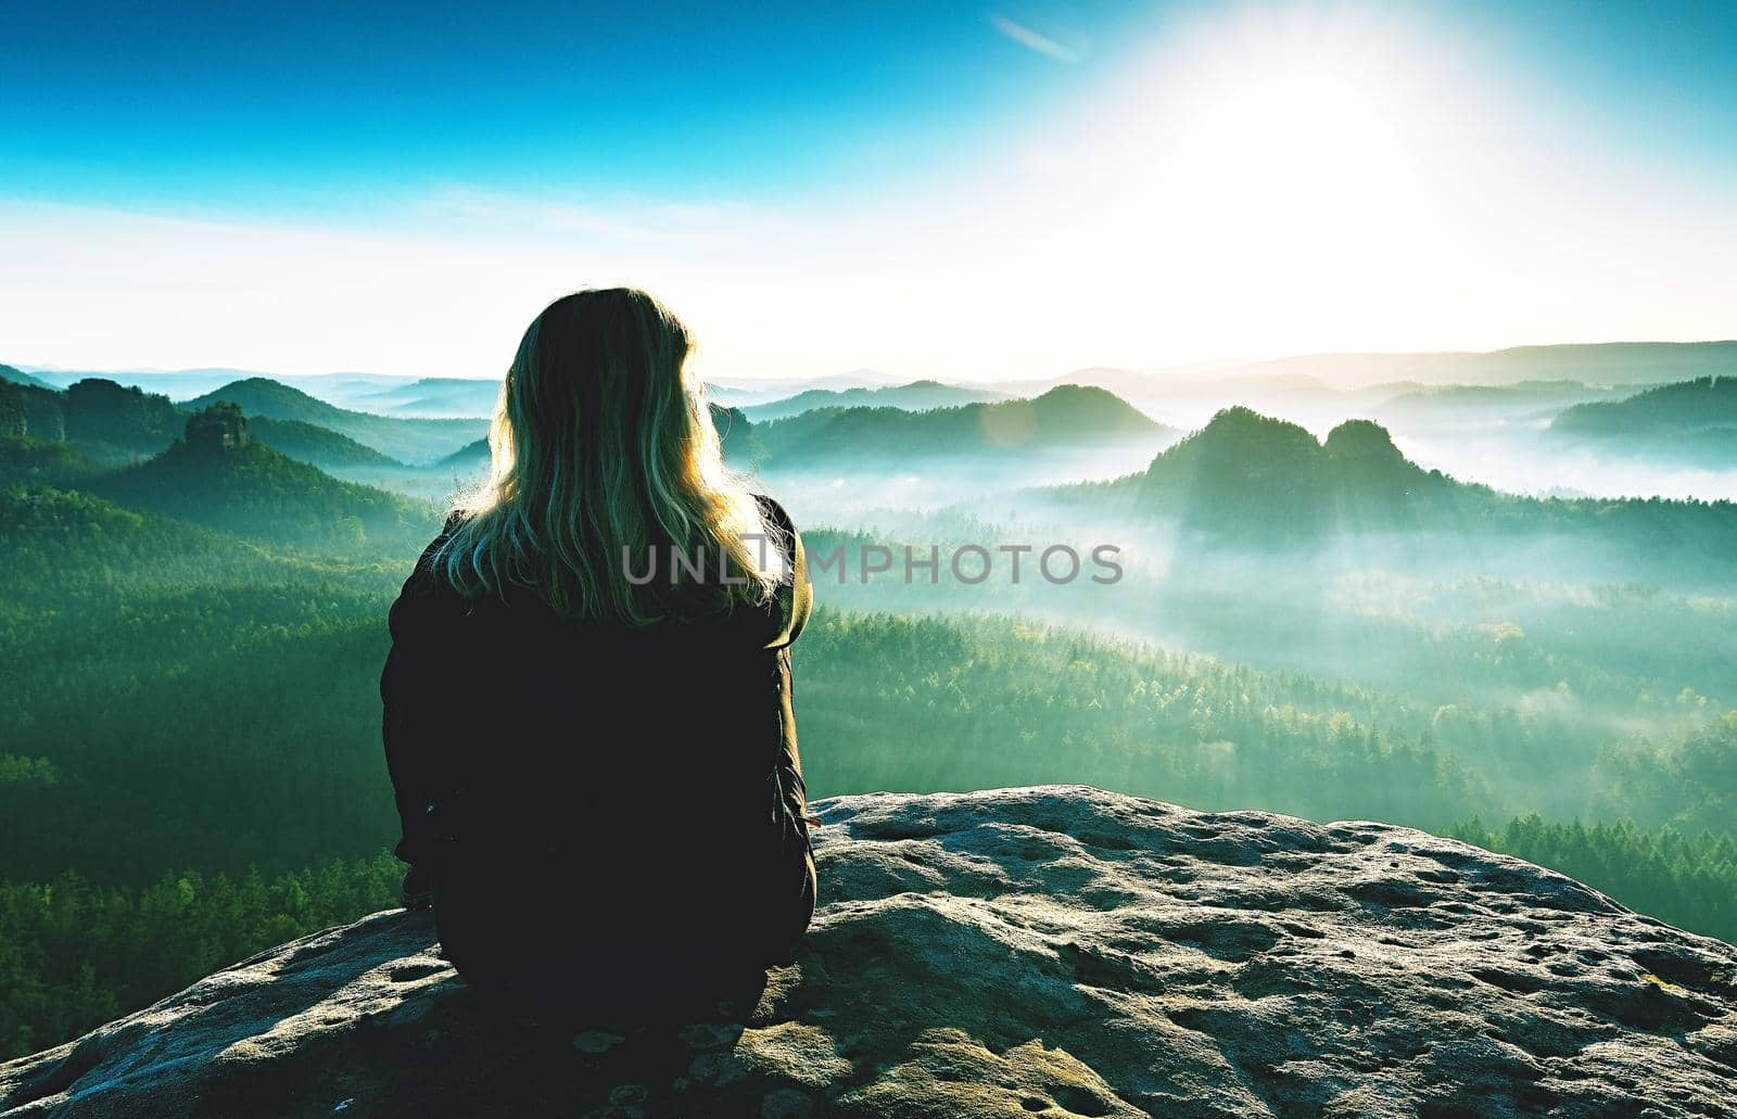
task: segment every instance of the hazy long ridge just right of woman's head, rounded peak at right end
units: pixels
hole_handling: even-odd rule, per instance
[[[902,408],[816,408],[754,426],[773,467],[827,459],[908,462],[933,457],[1018,455],[1152,443],[1174,431],[1105,389],[1077,384],[1034,400]]]

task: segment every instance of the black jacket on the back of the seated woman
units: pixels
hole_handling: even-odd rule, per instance
[[[466,978],[601,999],[637,973],[615,992],[634,997],[648,975],[782,959],[806,928],[790,645],[809,587],[761,500],[789,570],[763,606],[632,629],[530,587],[466,599],[431,566],[445,533],[405,582],[380,676],[396,853]]]

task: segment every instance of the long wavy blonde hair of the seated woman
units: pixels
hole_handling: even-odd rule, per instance
[[[471,598],[519,584],[561,617],[631,626],[766,601],[783,547],[724,467],[691,349],[637,288],[549,304],[500,386],[488,481],[460,499],[436,570]]]

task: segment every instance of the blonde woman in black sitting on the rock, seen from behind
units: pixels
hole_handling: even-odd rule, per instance
[[[393,606],[380,678],[410,902],[490,996],[679,1015],[815,905],[783,509],[723,466],[691,341],[639,290],[532,321],[493,469]]]

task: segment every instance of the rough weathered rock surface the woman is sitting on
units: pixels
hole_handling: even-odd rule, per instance
[[[0,1114],[1737,1112],[1737,949],[1515,858],[1082,787],[816,808],[745,1023],[492,1018],[394,910],[0,1065]]]

